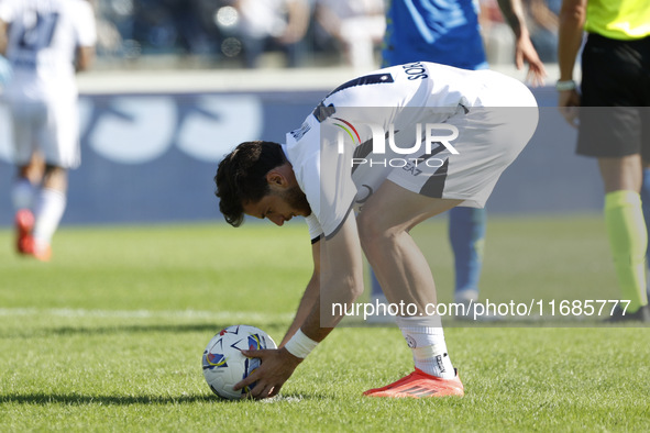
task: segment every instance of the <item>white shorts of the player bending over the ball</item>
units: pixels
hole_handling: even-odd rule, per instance
[[[537,101],[524,84],[496,74],[489,82],[481,93],[484,107],[459,111],[444,122],[458,129],[458,137],[449,141],[458,154],[440,145],[417,164],[400,163],[387,178],[427,197],[485,207],[500,175],[532,137],[539,119]],[[426,122],[426,111],[422,116],[420,122]]]

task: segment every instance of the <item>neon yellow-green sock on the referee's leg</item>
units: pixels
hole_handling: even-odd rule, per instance
[[[640,196],[629,190],[605,195],[605,224],[621,299],[630,300],[627,311],[634,313],[648,303],[645,260],[648,231]]]

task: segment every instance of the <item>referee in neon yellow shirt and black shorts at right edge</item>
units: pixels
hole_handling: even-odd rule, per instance
[[[573,68],[585,30],[581,96]],[[645,263],[650,222],[650,2],[564,0],[558,53],[560,111],[570,124],[580,123],[577,153],[598,159],[621,299],[631,301],[625,315],[619,311],[612,319],[650,322]],[[575,109],[581,106],[586,109]]]

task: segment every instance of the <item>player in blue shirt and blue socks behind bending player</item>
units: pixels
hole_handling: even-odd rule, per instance
[[[529,80],[533,85],[543,84],[544,66],[530,41],[520,0],[499,0],[498,3],[516,36],[517,68],[527,62]],[[384,66],[426,60],[463,69],[487,68],[477,2],[389,1],[383,58]],[[459,207],[449,213],[449,238],[455,258],[455,302],[478,299],[485,225],[485,209]],[[374,275],[372,281],[371,298],[383,300]]]

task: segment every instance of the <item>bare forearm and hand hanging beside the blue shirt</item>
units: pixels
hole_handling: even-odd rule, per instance
[[[498,0],[499,9],[504,19],[515,33],[515,65],[517,69],[524,67],[524,62],[528,63],[528,80],[533,86],[542,86],[547,70],[544,64],[539,58],[537,49],[530,41],[530,33],[526,25],[524,8],[520,0]]]

